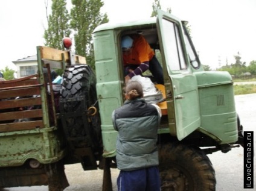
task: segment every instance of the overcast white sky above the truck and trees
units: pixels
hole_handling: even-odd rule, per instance
[[[36,46],[43,46],[46,1],[0,1],[0,69],[16,70],[12,61],[34,55]],[[123,22],[150,17],[154,0],[102,1],[101,11],[110,22]],[[171,8],[171,14],[188,21],[202,64],[216,69],[234,63],[237,52],[247,65],[256,60],[256,0],[160,0],[160,4],[162,10]]]

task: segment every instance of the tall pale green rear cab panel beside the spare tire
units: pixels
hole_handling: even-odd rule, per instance
[[[97,77],[97,96],[100,107],[101,131],[104,156],[115,155],[117,131],[112,125],[111,114],[123,104],[123,70],[120,49],[114,30],[94,33],[95,67]]]

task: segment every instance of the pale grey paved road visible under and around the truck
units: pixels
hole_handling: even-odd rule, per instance
[[[245,131],[256,128],[256,93],[235,96],[235,107]],[[254,145],[255,145],[254,139]],[[241,191],[243,189],[243,148],[234,148],[223,154],[216,152],[208,155],[216,171],[217,191]],[[256,172],[254,164],[254,172]],[[103,171],[83,171],[80,164],[66,165],[66,175],[71,186],[65,191],[101,191]],[[112,184],[117,190],[117,169],[112,169]],[[254,173],[255,174],[255,173]],[[254,187],[256,187],[254,176]],[[48,191],[47,186],[5,188],[1,191]]]

